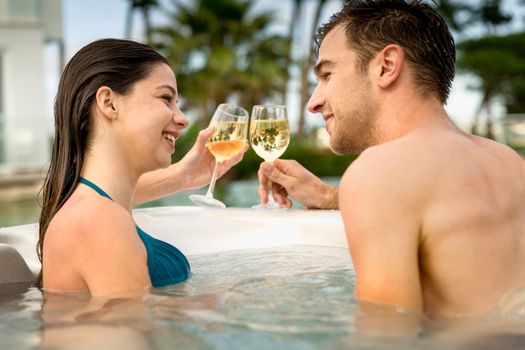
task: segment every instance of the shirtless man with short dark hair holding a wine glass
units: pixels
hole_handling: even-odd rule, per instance
[[[445,22],[421,1],[348,1],[318,43],[308,109],[334,152],[362,153],[339,192],[296,162],[265,163],[261,199],[271,181],[281,204],[340,208],[358,300],[490,312],[525,284],[525,163],[445,112],[455,62]]]

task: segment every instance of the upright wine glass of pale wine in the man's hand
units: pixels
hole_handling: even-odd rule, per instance
[[[255,153],[267,162],[272,162],[279,158],[290,143],[290,126],[286,115],[286,106],[253,106],[250,118],[250,144]],[[268,203],[266,205],[258,204],[252,208],[282,208],[273,199],[271,183],[269,183],[268,194]]]

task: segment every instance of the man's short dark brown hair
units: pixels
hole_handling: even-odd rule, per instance
[[[456,50],[443,18],[422,0],[348,0],[318,29],[316,43],[334,27],[345,27],[348,44],[361,72],[385,46],[401,46],[423,96],[444,104],[454,80]]]

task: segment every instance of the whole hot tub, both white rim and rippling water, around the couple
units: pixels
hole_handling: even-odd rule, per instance
[[[358,306],[337,211],[147,208],[148,233],[189,256],[192,278],[138,299],[0,288],[0,348],[522,349],[525,319],[430,320]],[[35,225],[0,230],[38,270]],[[525,300],[510,295],[512,308]],[[518,300],[518,301],[516,301]]]

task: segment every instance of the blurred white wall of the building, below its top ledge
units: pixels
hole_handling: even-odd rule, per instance
[[[50,113],[46,111],[43,31],[0,27],[3,70],[3,167],[34,167],[49,158]]]

